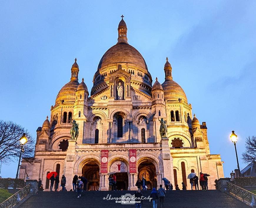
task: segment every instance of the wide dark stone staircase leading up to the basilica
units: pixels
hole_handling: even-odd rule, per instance
[[[143,196],[148,197],[151,191],[142,191]],[[135,207],[134,204],[120,204],[113,200],[103,200],[108,194],[111,197],[121,197],[125,194],[134,194],[134,191],[89,191],[82,192],[82,197],[77,198],[77,192],[39,192],[31,196],[21,204],[21,208],[72,208],[72,207]],[[143,200],[142,208],[153,207],[152,201]],[[158,207],[160,202],[158,200]],[[249,207],[236,198],[218,190],[172,190],[167,191],[164,199],[164,207],[212,207],[212,208],[243,208]]]

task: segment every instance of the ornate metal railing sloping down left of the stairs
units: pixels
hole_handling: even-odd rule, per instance
[[[22,189],[20,189],[18,192],[13,194],[11,197],[6,199],[3,203],[0,204],[1,208],[9,208],[13,207],[16,204],[19,204],[20,200],[26,197],[30,192],[30,184],[26,185]]]

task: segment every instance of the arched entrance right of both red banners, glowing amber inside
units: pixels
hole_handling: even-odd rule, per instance
[[[147,180],[147,189],[157,188],[156,167],[149,158],[145,158],[138,166],[138,179],[144,177]]]

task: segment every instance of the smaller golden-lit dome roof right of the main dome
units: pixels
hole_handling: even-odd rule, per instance
[[[177,82],[174,82],[172,79],[167,79],[162,83],[162,87],[164,90],[164,99],[179,100],[179,98],[181,98],[182,101],[187,103],[187,96]]]

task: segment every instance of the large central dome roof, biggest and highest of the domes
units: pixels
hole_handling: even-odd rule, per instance
[[[117,43],[109,48],[99,61],[98,70],[116,63],[132,63],[147,71],[147,64],[142,55],[128,43]]]

